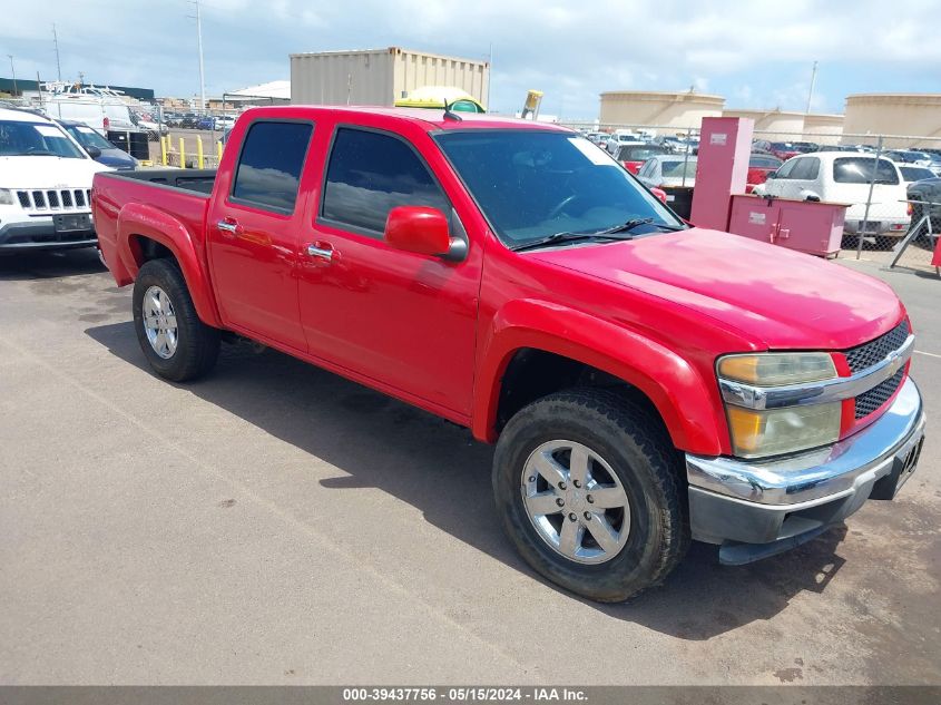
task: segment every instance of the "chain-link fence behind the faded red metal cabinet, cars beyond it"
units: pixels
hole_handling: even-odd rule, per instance
[[[648,186],[695,188],[698,128],[567,125]],[[939,136],[755,130],[746,193],[846,204],[841,256],[933,271],[939,177]]]

